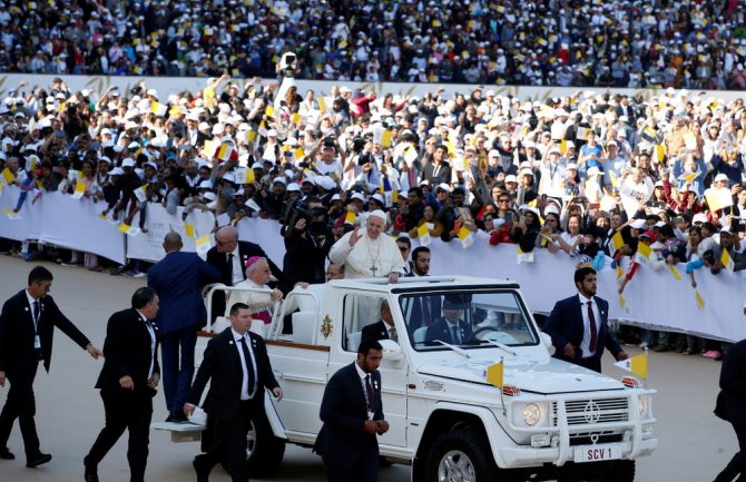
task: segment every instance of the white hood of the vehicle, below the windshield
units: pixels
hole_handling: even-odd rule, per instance
[[[453,362],[451,358],[440,363],[424,363],[416,368],[416,372],[421,375],[489,385],[487,367],[497,361],[471,358]],[[504,385],[517,386],[522,392],[553,394],[624,388],[618,380],[552,357],[510,358],[503,363]]]

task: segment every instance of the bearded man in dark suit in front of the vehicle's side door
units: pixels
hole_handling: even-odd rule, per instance
[[[357,361],[340,368],[326,384],[320,416],[324,422],[314,451],[326,469],[328,482],[379,480],[379,441],[389,431],[383,419],[381,373],[383,348],[364,338]]]

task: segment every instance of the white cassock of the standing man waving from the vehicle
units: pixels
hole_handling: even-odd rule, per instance
[[[404,274],[404,258],[394,238],[382,233],[376,239],[371,239],[361,230],[362,237],[350,248],[352,234],[342,236],[328,253],[334,264],[344,265],[345,278],[389,276],[392,272]]]

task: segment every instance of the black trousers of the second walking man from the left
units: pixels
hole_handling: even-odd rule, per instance
[[[153,396],[145,391],[101,391],[106,424],[88,452],[87,463],[98,465],[119,437],[129,431],[127,461],[130,482],[143,482],[148,461]]]

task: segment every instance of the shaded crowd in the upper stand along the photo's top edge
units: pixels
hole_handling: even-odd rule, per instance
[[[738,3],[13,0],[0,70],[744,89]]]

